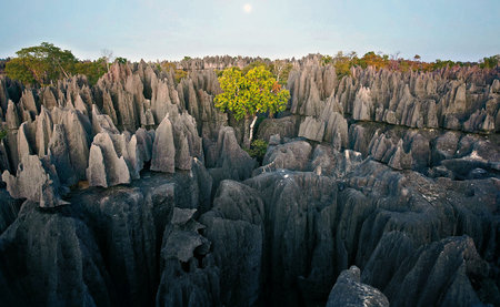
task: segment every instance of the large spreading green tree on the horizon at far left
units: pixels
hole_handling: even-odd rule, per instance
[[[77,58],[69,50],[61,50],[48,42],[28,47],[16,52],[18,58],[6,65],[6,73],[24,84],[48,84],[69,74],[77,63]]]

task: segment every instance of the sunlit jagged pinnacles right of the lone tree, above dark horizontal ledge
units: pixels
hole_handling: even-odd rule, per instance
[[[466,132],[498,131],[494,119],[499,94],[492,84],[498,80],[498,72],[493,72],[490,84],[473,79],[474,73],[472,69],[463,69],[401,74],[357,68],[351,76],[339,82],[334,70],[329,71],[328,66],[321,68],[312,61],[290,74],[291,112],[319,117],[324,105],[320,102],[334,93],[334,100],[346,113],[359,121]],[[327,82],[324,78],[332,74]]]

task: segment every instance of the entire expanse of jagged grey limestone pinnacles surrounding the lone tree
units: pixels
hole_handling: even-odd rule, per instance
[[[213,69],[0,78],[6,306],[500,301],[500,71],[338,78],[292,61],[262,165]]]

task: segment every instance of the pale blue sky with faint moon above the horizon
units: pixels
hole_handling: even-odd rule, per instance
[[[500,0],[0,0],[0,58],[51,42],[81,59],[500,53]]]

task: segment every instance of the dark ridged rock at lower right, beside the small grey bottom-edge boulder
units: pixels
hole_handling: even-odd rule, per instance
[[[401,241],[407,243],[397,247],[399,252],[392,256],[386,254]],[[377,268],[384,262],[384,255],[393,263],[392,278]],[[363,272],[363,280],[381,286],[392,304],[473,306],[480,300],[468,276],[484,278],[487,275],[488,265],[479,257],[470,237],[450,237],[417,249],[410,238],[388,234]]]

